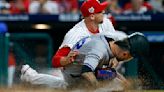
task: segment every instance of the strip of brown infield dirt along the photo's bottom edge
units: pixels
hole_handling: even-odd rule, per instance
[[[17,85],[12,88],[1,87],[0,92],[164,92],[164,90],[124,90],[124,91],[111,91],[108,88],[102,89],[54,89],[47,87],[34,87],[34,86],[26,86],[26,85]]]

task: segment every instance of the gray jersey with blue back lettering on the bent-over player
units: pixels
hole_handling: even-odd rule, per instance
[[[72,50],[78,51],[79,55],[74,63],[65,67],[65,72],[74,76],[80,75],[83,65],[94,71],[96,68],[102,68],[104,64],[109,64],[113,57],[109,44],[103,35],[83,38]]]

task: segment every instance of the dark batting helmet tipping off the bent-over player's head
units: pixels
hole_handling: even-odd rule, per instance
[[[146,57],[149,55],[149,42],[140,32],[132,33],[128,36],[130,53],[134,57]]]

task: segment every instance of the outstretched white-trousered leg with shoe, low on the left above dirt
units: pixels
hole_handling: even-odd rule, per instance
[[[29,65],[22,66],[21,80],[34,85],[44,85],[53,88],[66,88],[68,85],[61,76],[40,74],[32,69]]]

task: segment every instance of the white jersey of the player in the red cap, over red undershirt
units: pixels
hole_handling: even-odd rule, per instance
[[[103,23],[99,25],[99,33],[111,33],[114,32],[115,29],[109,19],[104,17]],[[76,24],[64,37],[64,40],[59,48],[63,46],[69,46],[71,49],[72,47],[82,38],[87,36],[92,36],[91,32],[88,31],[84,20],[80,21]]]

